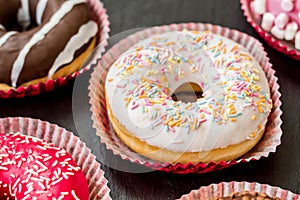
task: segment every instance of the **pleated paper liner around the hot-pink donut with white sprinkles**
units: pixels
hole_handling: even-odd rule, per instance
[[[31,118],[0,118],[0,133],[20,132],[24,135],[34,136],[54,143],[65,149],[81,167],[86,176],[90,199],[110,200],[108,181],[104,177],[104,171],[91,150],[80,141],[72,132],[55,124]]]

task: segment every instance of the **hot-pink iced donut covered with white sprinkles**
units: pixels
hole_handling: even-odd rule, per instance
[[[86,178],[64,149],[20,133],[0,134],[0,199],[87,200]]]

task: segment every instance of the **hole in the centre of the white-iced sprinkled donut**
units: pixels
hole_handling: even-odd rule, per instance
[[[174,101],[192,103],[196,102],[197,99],[203,98],[203,90],[198,84],[188,82],[176,88],[171,97]]]

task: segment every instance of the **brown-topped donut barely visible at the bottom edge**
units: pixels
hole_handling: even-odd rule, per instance
[[[230,196],[218,198],[217,200],[280,200],[278,197],[270,197],[265,193],[258,193],[258,192],[248,192],[244,191],[242,193],[233,193]]]

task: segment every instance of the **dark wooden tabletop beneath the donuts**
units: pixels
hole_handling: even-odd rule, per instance
[[[110,35],[133,28],[179,22],[207,22],[234,28],[257,37],[246,22],[238,0],[103,0],[111,22]],[[114,38],[122,37],[117,35]],[[175,175],[163,172],[129,173],[102,164],[113,199],[176,199],[193,189],[223,181],[254,181],[300,193],[300,61],[266,44],[279,78],[283,105],[282,144],[276,153],[259,161],[238,164],[207,174]],[[0,117],[32,117],[56,123],[79,135],[99,161],[123,169],[137,167],[114,156],[100,144],[91,127],[88,80],[90,72],[53,92],[23,99],[0,100]],[[74,87],[74,89],[73,89]],[[74,91],[74,96],[73,96]],[[139,168],[137,167],[137,170]]]

